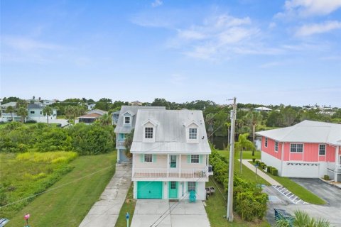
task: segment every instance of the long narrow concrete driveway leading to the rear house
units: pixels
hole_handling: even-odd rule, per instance
[[[114,177],[104,189],[99,201],[92,206],[80,223],[80,227],[115,226],[130,184],[131,164],[117,164]]]

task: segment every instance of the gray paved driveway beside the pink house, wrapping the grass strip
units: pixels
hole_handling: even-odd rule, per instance
[[[293,214],[296,210],[306,211],[310,216],[325,218],[330,221],[331,226],[341,226],[341,190],[325,184],[320,179],[293,179],[298,184],[306,187],[311,192],[325,199],[325,205],[292,204],[281,193],[273,187],[265,187],[264,192],[269,195],[268,211],[266,220],[274,226],[274,208],[285,209]]]

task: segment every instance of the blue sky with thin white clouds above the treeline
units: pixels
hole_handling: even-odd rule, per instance
[[[1,1],[0,96],[341,106],[341,0]]]

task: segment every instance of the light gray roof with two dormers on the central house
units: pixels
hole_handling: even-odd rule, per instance
[[[144,123],[156,122],[155,143],[143,142]],[[186,142],[186,125],[197,124],[198,143]],[[131,153],[210,154],[202,111],[139,110]]]

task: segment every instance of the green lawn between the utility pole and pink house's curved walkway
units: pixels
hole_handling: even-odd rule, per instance
[[[229,158],[229,152],[225,150],[219,150],[218,153],[222,156],[225,156]],[[243,153],[243,157],[246,157],[246,159],[249,159],[249,156],[251,156],[251,151],[246,151]],[[260,158],[259,152],[255,153],[256,159]],[[243,177],[244,179],[248,179],[250,182],[256,182],[257,184],[266,184],[270,185],[269,182],[267,182],[265,179],[261,177],[257,177],[254,172],[252,172],[248,167],[245,165],[242,165],[242,174],[240,174],[240,162],[238,160],[238,157],[234,157],[234,172],[236,172],[237,175]]]

